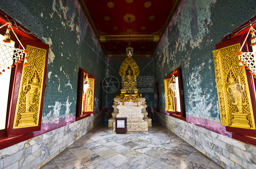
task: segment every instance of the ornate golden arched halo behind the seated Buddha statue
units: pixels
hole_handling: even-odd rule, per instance
[[[125,76],[126,71],[127,71],[129,66],[131,67],[132,75],[134,77],[136,77],[140,74],[140,69],[139,69],[137,63],[135,62],[135,60],[132,59],[132,58],[127,57],[127,58],[124,59],[124,62],[122,63],[122,65],[119,68],[119,75],[122,76],[122,77]]]

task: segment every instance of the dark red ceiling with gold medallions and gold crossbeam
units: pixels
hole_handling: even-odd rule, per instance
[[[150,57],[179,1],[80,0],[79,2],[107,57],[126,56],[125,48],[129,41],[129,22],[126,22],[128,17],[131,17],[130,39],[134,48],[133,57]],[[132,16],[125,19],[127,14]]]

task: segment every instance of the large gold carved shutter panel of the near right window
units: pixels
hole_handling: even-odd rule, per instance
[[[213,51],[221,125],[255,129],[245,68],[238,68],[235,44]]]

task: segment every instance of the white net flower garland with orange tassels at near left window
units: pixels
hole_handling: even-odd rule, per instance
[[[21,61],[23,61],[23,60],[24,60],[23,65],[28,65],[27,54],[29,53],[29,51],[27,49],[25,49],[24,46],[21,44],[21,41],[18,39],[18,36],[16,35],[16,33],[14,32],[14,30],[11,26],[12,23],[7,22],[4,25],[0,26],[0,29],[6,25],[8,25],[8,27],[4,34],[5,38],[4,38],[3,42],[5,42],[5,43],[11,42],[10,31],[13,31],[13,34],[17,38],[22,49],[0,44],[0,52],[1,52],[0,58],[2,60],[0,62],[1,63],[0,70],[2,70],[2,67],[4,67],[4,65],[7,65],[7,64],[9,65],[10,62],[12,62],[12,63],[10,63],[10,64],[12,64],[11,67],[14,67],[14,65],[17,65],[18,63],[21,63]],[[9,57],[11,57],[11,59],[7,59]],[[13,63],[13,59],[15,60],[14,63]],[[10,67],[8,66],[7,69],[10,69]],[[3,69],[1,72],[5,72],[5,70]],[[2,74],[1,72],[0,72],[0,75]]]

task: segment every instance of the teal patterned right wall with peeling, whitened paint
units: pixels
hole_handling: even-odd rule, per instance
[[[165,110],[163,79],[181,65],[186,114],[220,122],[212,51],[229,31],[255,15],[255,3],[181,1],[153,56],[162,110]]]

